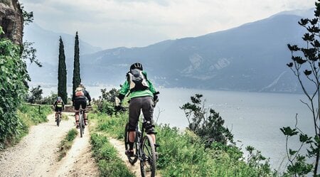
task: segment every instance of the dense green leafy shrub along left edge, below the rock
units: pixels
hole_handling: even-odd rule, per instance
[[[2,31],[2,29],[1,29]],[[0,148],[18,134],[21,122],[17,107],[26,97],[28,73],[21,49],[9,40],[0,40]]]

